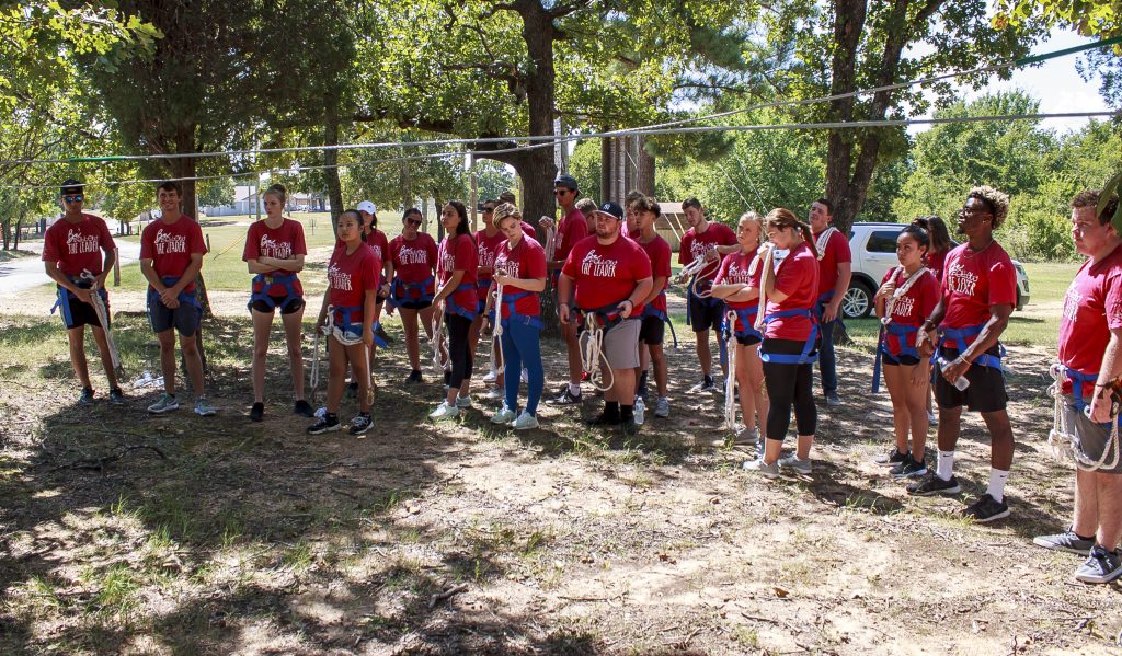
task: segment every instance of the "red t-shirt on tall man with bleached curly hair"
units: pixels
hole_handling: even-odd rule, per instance
[[[947,253],[942,327],[964,329],[990,321],[990,306],[1017,304],[1017,270],[996,241],[978,252],[964,243]],[[973,342],[973,340],[967,340]]]

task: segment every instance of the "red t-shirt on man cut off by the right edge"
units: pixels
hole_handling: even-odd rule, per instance
[[[1097,264],[1088,259],[1079,267],[1064,295],[1059,320],[1059,361],[1064,366],[1097,373],[1112,330],[1122,327],[1122,247]],[[1070,384],[1065,385],[1065,391]],[[1084,396],[1088,395],[1086,387]]]

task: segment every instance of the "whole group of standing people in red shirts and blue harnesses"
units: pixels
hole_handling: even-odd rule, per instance
[[[80,403],[93,399],[83,349],[91,325],[110,385],[110,401],[123,394],[109,364],[109,344],[94,308],[96,294],[108,316],[104,280],[113,264],[113,242],[104,222],[82,212],[83,186],[62,185],[64,216],[48,229],[43,259],[57,283],[58,303],[68,330],[72,362],[82,384]],[[195,344],[201,311],[194,278],[206,248],[199,224],[180,213],[175,182],[159,185],[163,215],[141,234],[141,270],[148,280],[148,314],[160,345],[164,392],[148,406],[160,414],[178,407],[175,388],[175,334],[178,334],[194,409],[212,415],[203,395],[202,366]],[[268,331],[279,308],[292,367],[293,410],[315,423],[309,433],[342,427],[339,408],[348,369],[357,389],[359,413],[351,434],[370,429],[370,371],[381,308],[402,316],[411,372],[407,384],[423,380],[420,330],[436,344],[434,363],[444,377],[445,397],[430,414],[456,417],[472,406],[469,395],[479,335],[490,327],[502,364],[488,376],[498,384],[502,406],[491,421],[516,429],[539,425],[537,406],[544,371],[539,333],[543,327],[540,295],[548,288],[555,303],[567,345],[569,381],[546,403],[578,405],[587,376],[604,392],[604,408],[589,421],[619,426],[634,435],[645,421],[647,364],[657,388],[654,415],[670,406],[662,352],[669,322],[666,288],[671,249],[656,230],[659,204],[629,195],[626,210],[613,202],[577,209],[579,187],[569,175],[554,181],[562,210],[554,225],[523,221],[503,200],[484,204],[485,229],[472,234],[467,207],[451,201],[441,210],[448,237],[436,244],[420,231],[420,211],[407,210],[402,233],[389,241],[376,228],[373,204],[338,218],[338,243],[328,264],[328,289],[316,321],[330,335],[327,407],[313,413],[304,399],[300,324],[304,299],[297,274],[307,249],[298,222],[283,215],[285,190],[265,194],[267,216],[250,227],[243,258],[255,274],[249,308],[254,316],[254,395],[250,417],[264,415],[264,368]],[[1118,200],[1100,211],[1101,192],[1079,194],[1072,203],[1072,234],[1087,257],[1065,297],[1059,333],[1059,362],[1054,368],[1056,427],[1050,440],[1077,465],[1072,526],[1040,536],[1047,548],[1087,555],[1076,578],[1106,582],[1122,574],[1122,462],[1119,458],[1118,398],[1122,375],[1122,238],[1111,225]],[[812,366],[821,368],[825,400],[837,405],[831,325],[849,281],[848,240],[830,227],[831,206],[817,201],[809,222],[785,209],[766,216],[744,214],[734,232],[706,220],[701,204],[683,204],[690,229],[681,240],[679,264],[689,267],[688,321],[697,333],[701,381],[692,392],[715,387],[709,331],[719,332],[721,367],[733,366],[744,426],[739,434],[755,444],[744,469],[776,477],[781,468],[812,472],[810,451],[817,431]],[[1013,264],[994,240],[1009,213],[1005,194],[987,186],[967,194],[957,228],[966,242],[951,248],[937,216],[905,227],[896,241],[899,267],[882,280],[874,302],[882,322],[877,370],[893,407],[894,444],[877,458],[892,475],[916,479],[917,496],[960,491],[955,477],[955,447],[962,410],[981,414],[991,437],[990,480],[985,492],[963,512],[980,523],[1010,515],[1005,481],[1014,441],[1006,412],[1008,394],[1000,338],[1017,301]],[[544,234],[539,241],[537,234]],[[102,257],[102,252],[104,257]],[[108,326],[105,326],[108,327]],[[440,339],[448,334],[447,344]],[[830,362],[826,362],[829,359]],[[726,372],[726,376],[728,373]],[[526,403],[518,405],[521,382]],[[733,386],[729,385],[729,389]],[[935,471],[928,471],[926,437],[938,406]],[[794,410],[795,450],[782,458]],[[521,410],[521,412],[519,412]]]

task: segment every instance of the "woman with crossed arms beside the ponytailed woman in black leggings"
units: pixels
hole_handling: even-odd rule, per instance
[[[712,284],[714,298],[725,302],[728,313],[721,324],[724,339],[735,340],[728,349],[733,360],[729,379],[736,386],[726,384],[726,406],[732,410],[729,428],[736,431],[737,444],[755,445],[757,455],[763,453],[761,436],[767,431],[767,406],[764,398],[764,370],[760,360],[760,342],[763,334],[756,330],[760,313],[760,280],[763,276],[763,258],[760,257],[764,233],[763,218],[755,212],[746,212],[736,227],[736,241],[741,250],[725,256],[720,270]],[[743,432],[735,425],[736,410],[732,404],[733,388],[739,388]]]

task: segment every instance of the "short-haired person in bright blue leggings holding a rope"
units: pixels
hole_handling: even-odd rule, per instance
[[[522,214],[509,203],[498,205],[494,221],[506,241],[495,257],[495,270],[487,297],[485,315],[494,324],[491,331],[502,341],[505,400],[491,417],[494,424],[506,424],[516,431],[537,427],[537,401],[545,387],[545,370],[539,344],[544,324],[541,320],[539,294],[545,290],[545,250],[523,233]],[[495,314],[490,314],[491,312]],[[521,414],[518,386],[523,367],[526,376],[526,406]]]

